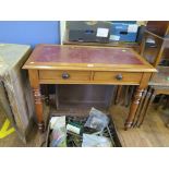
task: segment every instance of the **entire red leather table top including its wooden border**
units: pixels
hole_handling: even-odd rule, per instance
[[[131,48],[38,45],[24,69],[141,68],[155,69]],[[72,69],[73,69],[72,68]]]

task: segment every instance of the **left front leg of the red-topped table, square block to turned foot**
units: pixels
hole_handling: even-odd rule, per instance
[[[43,101],[40,93],[40,84],[37,70],[28,70],[29,82],[34,93],[35,112],[37,117],[38,129],[44,132],[45,124],[43,118]]]

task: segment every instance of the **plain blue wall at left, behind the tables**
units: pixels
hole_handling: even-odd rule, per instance
[[[59,21],[1,21],[0,43],[60,44]]]

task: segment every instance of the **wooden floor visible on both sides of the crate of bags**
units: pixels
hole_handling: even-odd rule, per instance
[[[81,113],[83,113],[83,111]],[[152,107],[141,128],[124,131],[123,123],[128,111],[128,108],[122,106],[112,106],[110,109],[111,117],[117,126],[118,135],[123,147],[169,147],[169,129],[165,126],[167,120],[169,119],[169,110],[159,109],[156,111]],[[0,116],[0,128],[4,122],[4,118],[2,117],[4,116]],[[14,132],[4,138],[0,138],[0,146],[37,147],[41,146],[44,141],[45,134],[41,136],[37,132],[37,128],[35,128],[29,135],[27,144],[23,144]]]

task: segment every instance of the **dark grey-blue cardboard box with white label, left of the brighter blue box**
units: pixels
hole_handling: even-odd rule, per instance
[[[109,22],[70,21],[67,23],[70,41],[109,43]]]

